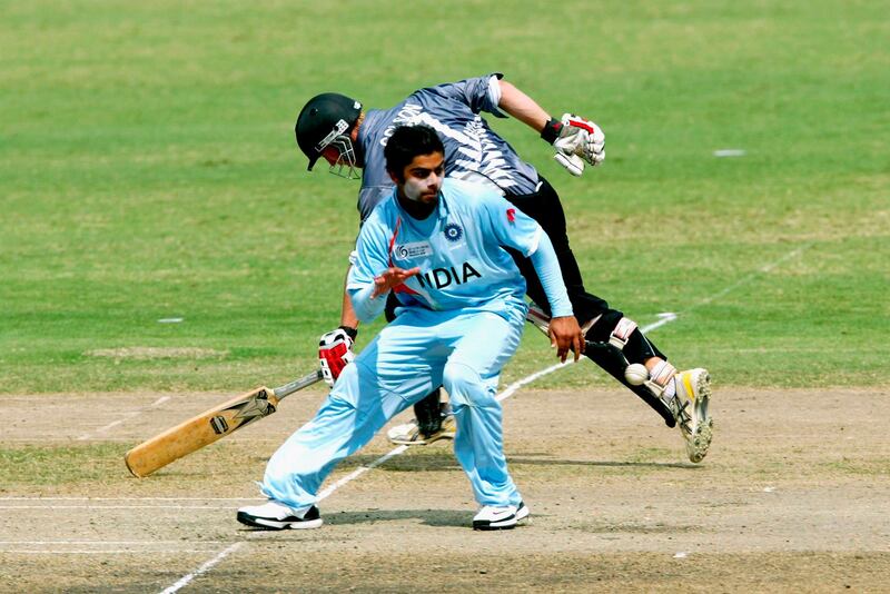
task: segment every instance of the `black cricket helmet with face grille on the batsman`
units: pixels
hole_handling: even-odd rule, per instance
[[[340,159],[355,166],[349,132],[360,115],[360,102],[336,92],[318,95],[303,106],[294,132],[300,150],[309,158],[309,171],[330,146],[339,150]]]

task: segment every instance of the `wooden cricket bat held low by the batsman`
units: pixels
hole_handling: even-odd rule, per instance
[[[312,386],[319,379],[320,369],[274,389],[259,387],[205,410],[127,452],[123,456],[127,468],[140,478],[148,476],[182,456],[271,415],[286,396]]]

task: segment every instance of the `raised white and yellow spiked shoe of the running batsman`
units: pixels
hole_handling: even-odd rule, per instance
[[[689,459],[695,463],[704,459],[713,437],[713,419],[708,415],[711,399],[711,375],[701,367],[679,372],[674,376],[676,396],[669,406],[676,417],[676,424],[686,442]]]

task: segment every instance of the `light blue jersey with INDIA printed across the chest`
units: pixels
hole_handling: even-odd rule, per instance
[[[525,315],[525,279],[503,246],[528,257],[543,234],[535,220],[477,184],[445,179],[424,220],[407,215],[392,190],[362,227],[346,289],[359,319],[368,321],[386,303],[385,295],[368,298],[374,278],[390,266],[419,266],[394,289],[403,307],[492,311],[515,321]]]

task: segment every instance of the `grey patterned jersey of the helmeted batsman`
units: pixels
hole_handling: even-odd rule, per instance
[[[501,73],[471,78],[414,91],[392,109],[370,109],[358,129],[364,156],[358,212],[364,221],[388,197],[393,181],[386,172],[383,149],[397,126],[424,123],[438,132],[445,145],[445,175],[496,186],[504,195],[532,194],[537,171],[523,161],[510,143],[479,116],[498,118]]]

